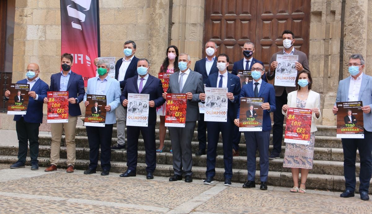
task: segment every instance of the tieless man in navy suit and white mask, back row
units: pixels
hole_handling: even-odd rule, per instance
[[[208,76],[218,72],[217,68],[217,44],[213,41],[208,41],[205,43],[205,53],[206,57],[204,59],[195,62],[194,71],[198,72],[203,76],[203,83],[205,84]],[[199,140],[199,150],[195,153],[196,156],[205,155],[206,147],[206,123],[204,121],[204,114],[200,114],[200,119],[198,120],[198,140]]]

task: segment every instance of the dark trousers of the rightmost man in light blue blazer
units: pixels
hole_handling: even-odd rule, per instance
[[[364,130],[364,139],[342,138],[342,148],[344,150],[344,176],[345,187],[350,191],[355,191],[355,159],[356,150],[359,150],[360,172],[359,172],[359,192],[369,189],[369,181],[372,176],[372,132]]]

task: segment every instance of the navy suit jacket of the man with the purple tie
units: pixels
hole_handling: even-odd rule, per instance
[[[125,99],[128,100],[128,93],[139,94],[138,91],[138,84],[137,84],[138,76],[128,78],[126,80],[126,84],[123,90],[123,93],[120,96],[120,103],[123,103]],[[151,76],[148,74],[148,78],[146,84],[143,86],[141,94],[150,94],[150,101],[153,100],[155,102],[154,107],[148,108],[148,124],[155,125],[156,123],[156,107],[161,106],[165,103],[163,98],[163,84],[161,84],[161,80],[158,78]]]

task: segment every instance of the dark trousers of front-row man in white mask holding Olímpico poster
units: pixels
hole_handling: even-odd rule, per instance
[[[217,143],[219,141],[219,132],[222,134],[222,146],[224,149],[224,166],[225,178],[232,177],[232,127],[233,121],[227,119],[227,122],[210,122],[207,121],[208,129],[208,149],[207,149],[207,170],[205,175],[207,177],[214,177],[216,175],[216,152]]]

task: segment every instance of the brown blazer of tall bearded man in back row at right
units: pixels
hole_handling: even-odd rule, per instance
[[[273,61],[276,61],[276,55],[283,54],[283,53],[284,53],[284,50],[283,49],[281,51],[279,51],[279,52],[274,53],[271,56],[269,66],[271,65],[271,63]],[[295,49],[293,55],[298,55],[298,62],[301,63],[302,67],[304,67],[305,70],[310,71],[310,69],[309,69],[309,61],[307,60],[307,56],[306,56],[306,54],[304,52],[298,51],[297,49]],[[273,80],[275,78],[275,71],[272,71],[272,74],[270,74],[270,72],[267,71],[266,72],[266,78],[267,78],[267,80]],[[283,91],[284,91],[284,86],[276,86],[276,85],[274,85],[274,89],[275,89],[275,96],[281,96],[283,94]],[[287,91],[287,94],[291,93],[292,91],[296,91],[297,90],[296,87],[285,87],[285,89]]]

